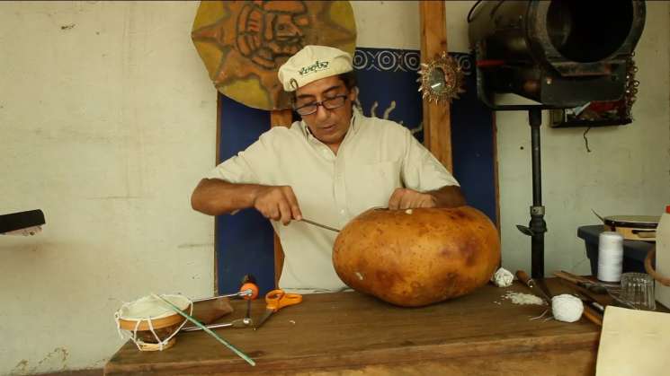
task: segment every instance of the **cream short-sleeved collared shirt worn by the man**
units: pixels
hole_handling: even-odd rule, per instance
[[[398,123],[354,109],[337,155],[304,121],[273,127],[254,144],[210,171],[208,179],[290,186],[305,219],[341,229],[357,214],[386,207],[395,188],[428,191],[459,183]],[[287,291],[341,291],[332,261],[337,233],[293,221],[272,222],[284,250],[279,285]]]

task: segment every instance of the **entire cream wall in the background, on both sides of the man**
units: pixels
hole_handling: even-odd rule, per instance
[[[447,3],[467,51],[473,2]],[[212,293],[213,221],[189,197],[214,163],[216,92],[192,47],[198,3],[0,2],[0,213],[44,232],[0,238],[0,374],[102,367],[112,313],[150,292]],[[419,48],[415,2],[353,2],[362,47]],[[61,29],[72,25],[71,29]],[[670,6],[648,2],[635,122],[542,127],[547,270],[587,273],[576,228],[670,204]],[[497,116],[503,263],[530,269],[530,130]],[[523,150],[521,147],[523,146]]]

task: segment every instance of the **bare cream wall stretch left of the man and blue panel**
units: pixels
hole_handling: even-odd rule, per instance
[[[0,213],[47,219],[0,238],[0,374],[102,367],[121,302],[212,293],[189,201],[216,144],[197,6],[0,2]]]

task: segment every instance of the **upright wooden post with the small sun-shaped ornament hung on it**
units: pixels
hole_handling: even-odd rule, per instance
[[[421,62],[426,63],[447,50],[447,24],[444,1],[419,2],[421,19]],[[451,162],[450,104],[429,103],[424,99],[424,145],[453,170]]]

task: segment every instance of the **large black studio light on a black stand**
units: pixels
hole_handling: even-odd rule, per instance
[[[541,109],[618,101],[631,90],[629,67],[645,24],[644,1],[481,1],[468,14],[480,101],[494,110],[526,110],[532,142],[528,226],[532,277],[544,276]],[[637,90],[637,89],[635,89]],[[499,104],[513,93],[534,104]],[[501,130],[502,131],[502,130]]]

